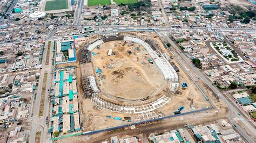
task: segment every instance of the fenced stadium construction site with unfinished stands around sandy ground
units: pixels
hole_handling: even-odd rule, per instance
[[[154,32],[93,35],[78,43],[85,132],[212,106]]]

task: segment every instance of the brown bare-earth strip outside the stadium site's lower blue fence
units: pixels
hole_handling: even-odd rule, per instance
[[[177,118],[169,118],[166,120],[156,121],[154,123],[147,123],[143,125],[136,126],[135,130],[130,130],[130,128],[124,128],[123,130],[116,130],[110,132],[102,132],[98,134],[93,134],[90,136],[80,135],[77,137],[65,138],[58,140],[58,142],[102,142],[104,140],[109,140],[110,137],[115,135],[138,135],[141,133],[149,134],[154,132],[159,132],[159,130],[170,131],[178,127],[183,127],[184,124],[201,124],[209,121],[215,121],[220,118],[225,118],[227,114],[225,110],[221,110],[222,114],[215,112],[200,112],[195,113],[193,116],[180,116]],[[200,120],[198,120],[200,118]]]

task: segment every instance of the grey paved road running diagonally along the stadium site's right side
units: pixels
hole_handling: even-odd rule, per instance
[[[229,119],[231,120],[232,124],[234,124],[234,118],[237,117],[237,118],[240,118],[243,123],[245,124],[245,126],[247,127],[247,130],[250,130],[252,133],[254,133],[254,137],[256,137],[256,130],[254,127],[251,126],[250,123],[248,123],[248,120],[246,117],[244,116],[239,116],[238,113],[240,112],[236,106],[234,106],[216,87],[214,87],[212,85],[212,83],[207,79],[207,77],[205,77],[205,75],[203,73],[201,73],[201,71],[194,67],[191,63],[191,61],[181,52],[181,50],[179,49],[179,47],[176,45],[176,43],[174,43],[170,38],[169,36],[167,35],[165,37],[165,39],[170,42],[170,44],[172,45],[172,47],[174,47],[174,49],[177,51],[176,52],[176,55],[178,57],[178,59],[182,59],[184,60],[187,65],[193,70],[194,73],[197,73],[198,74],[198,77],[200,77],[200,79],[206,84],[208,85],[208,87],[210,87],[213,92],[215,94],[217,94],[219,96],[220,99],[222,99],[228,106],[229,110],[235,114],[231,114],[231,116],[229,117]],[[238,125],[237,125],[238,126]],[[252,137],[249,137],[249,135],[241,129],[241,127],[238,127],[238,132],[247,139],[247,141],[249,142],[254,142]]]

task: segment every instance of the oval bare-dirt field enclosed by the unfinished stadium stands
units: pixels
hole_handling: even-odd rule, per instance
[[[167,81],[158,67],[149,63],[152,59],[146,49],[131,42],[123,44],[124,41],[111,41],[92,51],[96,53],[92,61],[101,94],[125,102],[159,94]],[[113,55],[108,56],[110,49]]]

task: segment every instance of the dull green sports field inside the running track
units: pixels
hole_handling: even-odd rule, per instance
[[[45,11],[49,10],[62,10],[62,9],[68,9],[68,0],[49,0],[46,1],[45,4]]]

